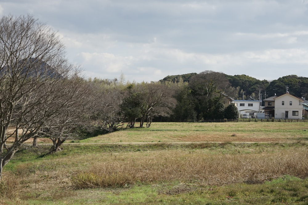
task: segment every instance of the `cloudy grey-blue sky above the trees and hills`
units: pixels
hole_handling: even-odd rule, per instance
[[[0,14],[57,30],[86,77],[308,77],[308,0],[0,0]]]

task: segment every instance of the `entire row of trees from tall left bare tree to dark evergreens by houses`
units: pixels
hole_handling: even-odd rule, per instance
[[[0,30],[0,179],[14,154],[39,137],[49,137],[55,152],[84,131],[113,132],[125,123],[237,117],[234,106],[223,105],[222,93],[234,92],[223,73],[187,75],[189,82],[86,80],[57,33],[32,16],[4,16]]]

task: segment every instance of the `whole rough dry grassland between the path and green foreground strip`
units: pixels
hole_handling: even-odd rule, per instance
[[[112,152],[108,148],[99,150],[102,148],[99,145],[89,146],[98,149],[87,152],[80,145],[67,145],[62,152],[31,162],[14,165],[13,160],[14,166],[4,172],[0,185],[0,204],[3,200],[20,204],[31,204],[31,200],[39,200],[37,204],[47,201],[72,204],[81,199],[103,198],[92,195],[94,190],[88,188],[103,187],[104,193],[110,190],[118,193],[117,190],[129,190],[125,188],[137,184],[167,183],[173,188],[161,187],[158,192],[173,195],[190,193],[198,187],[263,183],[283,175],[308,176],[306,144],[197,145],[182,148],[170,145],[159,150],[155,144],[152,150],[149,145],[133,145],[129,148],[135,151]],[[172,185],[175,183],[179,187]],[[77,204],[83,203],[86,202]]]

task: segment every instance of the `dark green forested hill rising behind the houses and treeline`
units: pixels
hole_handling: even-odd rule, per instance
[[[197,73],[187,73],[181,75],[172,75],[164,77],[160,82],[172,82],[178,83],[188,82],[191,77],[198,75]],[[270,97],[276,95],[282,95],[286,93],[286,87],[290,94],[296,97],[306,97],[308,98],[308,78],[298,77],[297,75],[288,75],[280,77],[277,80],[258,80],[254,77],[249,77],[247,75],[226,75],[225,77],[229,80],[230,86],[235,89],[234,93],[226,93],[235,99],[241,99],[243,97],[253,97],[255,99],[259,98],[259,92],[261,90],[262,99],[265,97]]]

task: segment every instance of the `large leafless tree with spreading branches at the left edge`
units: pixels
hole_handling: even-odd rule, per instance
[[[45,24],[30,15],[3,16],[0,31],[1,179],[27,140],[70,122],[63,113],[78,102],[80,84],[59,36]]]

